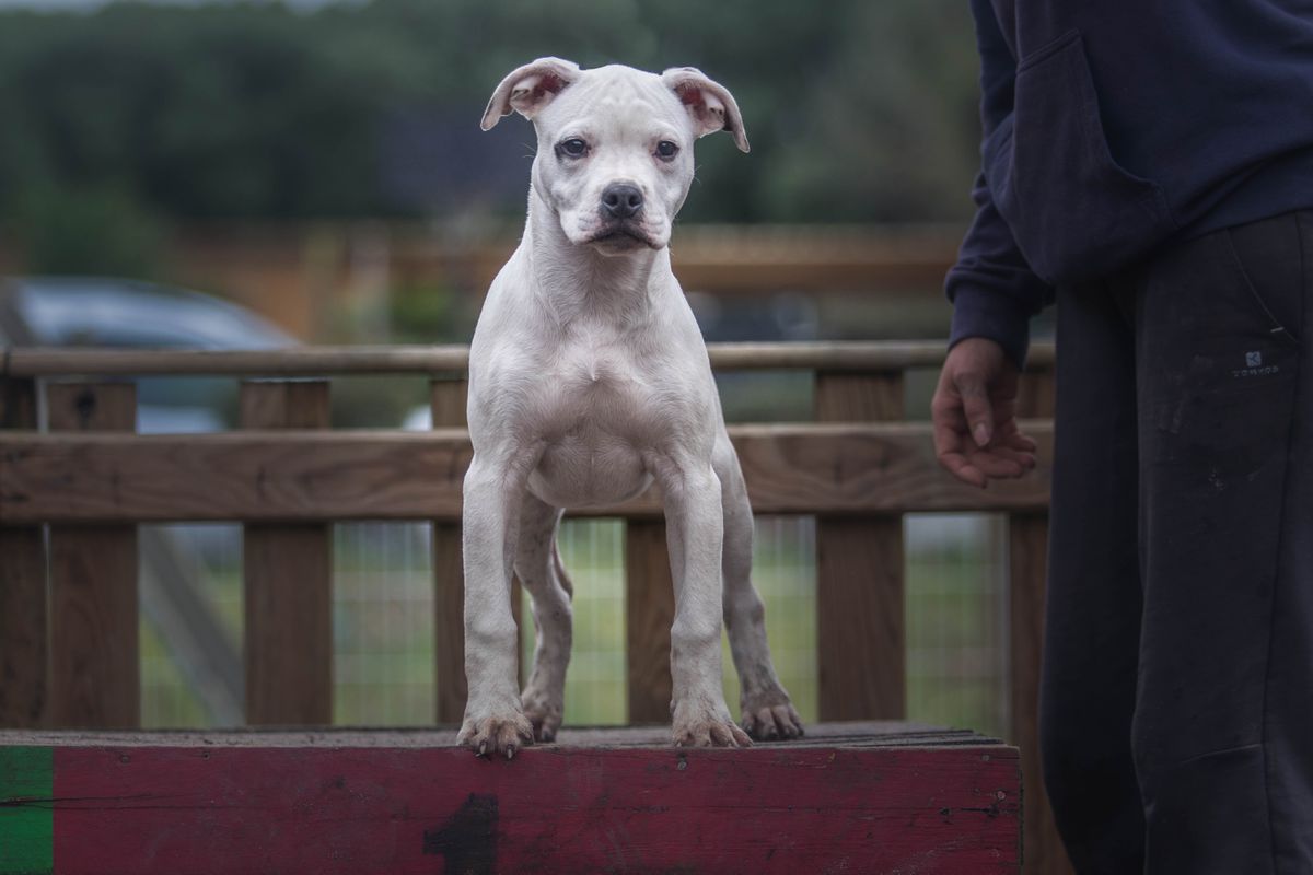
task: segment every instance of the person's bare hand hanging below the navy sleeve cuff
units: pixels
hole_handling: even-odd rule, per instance
[[[930,413],[935,455],[962,483],[983,489],[1035,467],[1035,441],[1016,426],[1018,376],[993,340],[968,337],[948,352]]]

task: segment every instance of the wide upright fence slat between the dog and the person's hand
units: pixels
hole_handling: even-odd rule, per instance
[[[897,421],[902,373],[815,375],[818,422]],[[817,517],[817,665],[822,720],[906,711],[901,514]]]

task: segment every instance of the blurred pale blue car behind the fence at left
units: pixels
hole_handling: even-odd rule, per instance
[[[198,291],[96,277],[0,281],[0,348],[278,349],[295,344],[249,310]],[[214,432],[232,422],[232,379],[143,376],[135,382],[142,433]]]

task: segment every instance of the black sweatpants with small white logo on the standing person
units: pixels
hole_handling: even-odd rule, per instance
[[[1058,293],[1040,733],[1079,872],[1313,872],[1313,211]]]

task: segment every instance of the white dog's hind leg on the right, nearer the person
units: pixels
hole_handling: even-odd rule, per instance
[[[765,605],[752,585],[752,508],[738,457],[721,433],[716,443],[716,475],[725,510],[725,627],[739,676],[739,716],[754,739],[796,739],[802,720],[780,685],[765,641]]]

